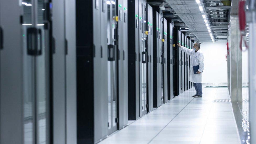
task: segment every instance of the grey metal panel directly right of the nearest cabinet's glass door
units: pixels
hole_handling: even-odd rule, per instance
[[[52,33],[55,38],[55,54],[53,54],[53,135],[54,143],[65,143],[65,28],[64,1],[53,1]]]

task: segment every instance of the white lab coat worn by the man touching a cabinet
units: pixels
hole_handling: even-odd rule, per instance
[[[196,51],[193,49],[188,49],[184,46],[181,46],[180,49],[184,51],[186,54],[190,56],[190,78],[189,81],[193,83],[202,83],[202,73],[200,74],[194,74],[193,66],[199,65],[199,72],[203,72],[204,70],[204,55],[199,49]]]

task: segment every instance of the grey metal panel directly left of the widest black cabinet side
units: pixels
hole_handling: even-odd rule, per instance
[[[66,55],[66,142],[77,143],[76,112],[76,3],[65,0]]]

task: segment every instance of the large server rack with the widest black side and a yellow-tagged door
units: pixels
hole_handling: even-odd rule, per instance
[[[126,8],[76,1],[77,143],[99,142],[127,124]]]

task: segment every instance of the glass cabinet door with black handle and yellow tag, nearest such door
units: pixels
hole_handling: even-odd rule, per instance
[[[107,24],[107,36],[108,36],[108,134],[117,130],[117,62],[118,62],[118,49],[116,46],[117,41],[117,21],[116,14],[117,8],[115,1],[108,4],[108,24]],[[97,29],[97,28],[95,28]],[[100,34],[100,32],[99,32]],[[95,41],[96,42],[96,41]]]

